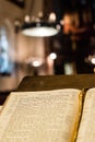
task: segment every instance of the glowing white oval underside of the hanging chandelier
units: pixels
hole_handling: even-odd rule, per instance
[[[54,36],[58,34],[58,29],[54,27],[32,27],[23,29],[22,33],[26,36],[44,37],[44,36]]]

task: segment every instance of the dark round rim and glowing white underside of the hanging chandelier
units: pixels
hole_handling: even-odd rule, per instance
[[[58,34],[59,27],[56,23],[31,22],[23,24],[22,33],[26,36],[48,37]]]

